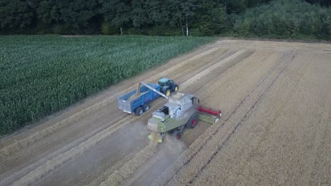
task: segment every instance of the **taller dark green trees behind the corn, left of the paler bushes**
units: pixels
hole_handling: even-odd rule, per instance
[[[217,35],[227,13],[243,13],[267,1],[1,0],[0,32]]]

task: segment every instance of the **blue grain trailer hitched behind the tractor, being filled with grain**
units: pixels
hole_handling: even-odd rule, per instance
[[[127,113],[135,113],[137,116],[140,116],[144,111],[148,111],[150,108],[149,102],[160,97],[160,94],[155,92],[155,90],[160,91],[160,85],[153,83],[147,83],[147,85],[149,87],[145,85],[138,87],[140,94],[137,94],[137,89],[135,89],[117,98],[119,109]]]

